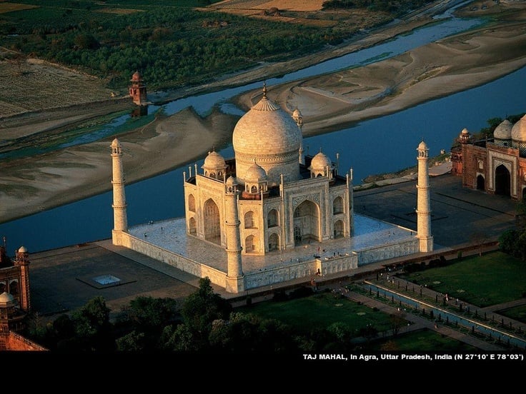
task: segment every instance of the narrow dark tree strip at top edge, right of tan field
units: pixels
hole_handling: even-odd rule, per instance
[[[328,0],[324,1],[322,6],[323,9],[368,9],[369,11],[385,11],[394,15],[402,15],[432,2],[432,0]]]

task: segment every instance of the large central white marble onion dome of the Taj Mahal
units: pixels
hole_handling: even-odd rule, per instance
[[[263,96],[237,122],[232,134],[236,177],[244,183],[247,171],[257,161],[267,173],[269,186],[300,179],[298,155],[302,132],[292,116]]]

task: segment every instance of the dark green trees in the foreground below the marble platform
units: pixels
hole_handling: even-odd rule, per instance
[[[111,310],[96,297],[71,315],[41,325],[31,320],[27,338],[52,352],[178,352],[301,354],[354,350],[356,333],[342,323],[297,333],[279,320],[239,313],[217,293],[209,278],[182,305],[172,298],[139,296],[110,322]],[[373,338],[369,326],[359,335]]]

